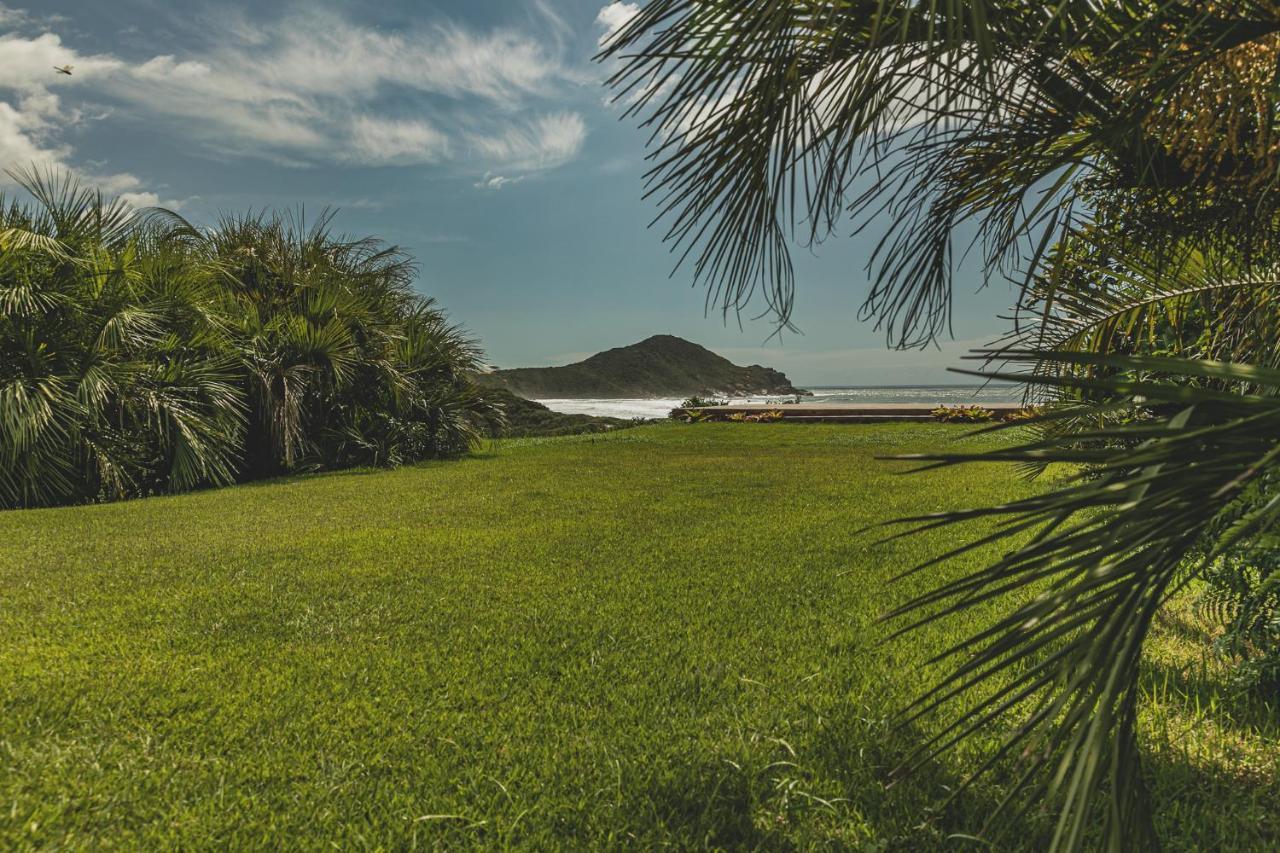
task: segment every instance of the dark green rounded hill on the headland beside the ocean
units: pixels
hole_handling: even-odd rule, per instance
[[[804,393],[778,370],[758,364],[742,368],[671,334],[605,350],[563,368],[494,370],[479,380],[535,400]]]

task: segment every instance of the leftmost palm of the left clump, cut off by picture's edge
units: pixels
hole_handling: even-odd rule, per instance
[[[0,218],[0,506],[230,482],[242,430],[214,293],[119,202],[17,175]]]

